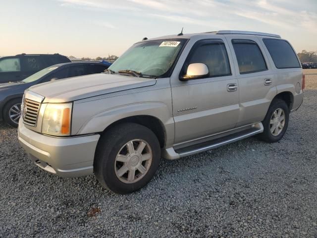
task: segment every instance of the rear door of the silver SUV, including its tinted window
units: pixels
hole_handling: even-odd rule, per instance
[[[257,37],[226,36],[236,65],[240,95],[237,126],[262,121],[276,95],[275,77]]]

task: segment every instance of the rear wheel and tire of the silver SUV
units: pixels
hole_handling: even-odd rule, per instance
[[[278,114],[281,113],[281,117]],[[273,114],[275,116],[273,116]],[[282,115],[284,114],[284,121]],[[276,117],[277,116],[277,117]],[[272,120],[271,120],[272,119]],[[289,121],[289,109],[287,104],[282,99],[274,99],[268,108],[266,116],[262,121],[264,126],[263,133],[259,134],[259,138],[263,141],[274,143],[282,139],[284,136]],[[282,126],[282,128],[281,128]],[[274,129],[275,128],[275,129]],[[273,132],[271,132],[273,130]]]

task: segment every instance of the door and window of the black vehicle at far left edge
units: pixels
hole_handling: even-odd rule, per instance
[[[0,83],[20,81],[24,79],[19,57],[0,59]]]

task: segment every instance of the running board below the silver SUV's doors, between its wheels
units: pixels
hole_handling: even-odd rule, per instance
[[[200,144],[184,147],[181,149],[174,150],[173,147],[167,148],[162,151],[162,157],[168,160],[175,160],[185,156],[194,155],[197,153],[205,152],[211,149],[218,148],[222,145],[227,145],[238,140],[248,138],[250,136],[263,132],[262,122],[254,124],[251,128],[239,131],[230,135],[226,135],[220,138],[216,138]]]

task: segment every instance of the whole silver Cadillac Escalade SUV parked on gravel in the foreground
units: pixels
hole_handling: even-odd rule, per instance
[[[26,90],[18,138],[62,177],[95,174],[116,193],[179,159],[258,134],[279,141],[305,77],[280,36],[218,31],[144,39],[105,73]]]

